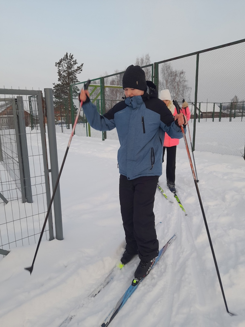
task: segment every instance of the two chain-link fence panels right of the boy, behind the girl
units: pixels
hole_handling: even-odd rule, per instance
[[[189,103],[193,149],[244,156],[244,59],[240,40],[156,63],[159,90]]]

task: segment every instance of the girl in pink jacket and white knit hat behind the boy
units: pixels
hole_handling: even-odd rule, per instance
[[[172,102],[171,94],[168,89],[162,90],[159,95],[159,99],[165,102],[166,106],[172,112],[172,115],[175,116],[177,110]],[[184,110],[183,110],[184,109]],[[187,120],[190,119],[190,110],[188,103],[185,101],[182,104],[182,111],[186,115]],[[175,192],[175,162],[176,162],[176,146],[179,144],[179,139],[172,139],[165,133],[164,143],[163,143],[163,154],[162,162],[164,161],[165,149],[167,149],[167,165],[166,165],[166,176],[167,176],[167,186],[171,192]]]

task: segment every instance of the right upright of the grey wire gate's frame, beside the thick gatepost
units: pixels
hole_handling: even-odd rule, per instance
[[[38,106],[38,115],[39,115],[39,126],[41,133],[41,145],[42,145],[42,160],[43,160],[43,169],[44,169],[44,180],[45,180],[45,188],[46,188],[46,200],[47,207],[51,202],[50,195],[50,182],[49,182],[49,173],[48,173],[48,154],[46,147],[46,128],[44,122],[44,112],[42,108],[42,92],[37,91],[37,106]],[[54,239],[54,230],[53,230],[53,218],[52,212],[50,211],[48,215],[48,229],[49,229],[49,240],[52,241]]]

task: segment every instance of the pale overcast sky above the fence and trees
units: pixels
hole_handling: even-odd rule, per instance
[[[0,88],[52,88],[66,52],[79,81],[245,38],[244,0],[1,0]]]

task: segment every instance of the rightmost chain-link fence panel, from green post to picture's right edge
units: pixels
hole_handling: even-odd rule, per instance
[[[196,56],[195,149],[244,156],[245,42]]]

